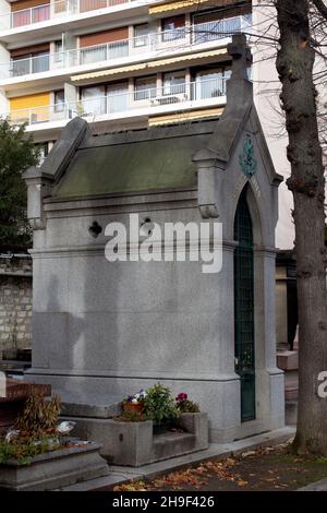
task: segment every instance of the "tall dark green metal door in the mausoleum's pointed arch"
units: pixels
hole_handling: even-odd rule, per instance
[[[243,190],[234,219],[235,372],[241,378],[241,418],[255,418],[253,230]]]

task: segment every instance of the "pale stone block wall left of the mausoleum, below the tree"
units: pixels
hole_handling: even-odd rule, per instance
[[[32,260],[0,253],[0,351],[31,347],[31,318]]]

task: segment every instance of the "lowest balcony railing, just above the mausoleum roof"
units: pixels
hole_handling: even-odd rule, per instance
[[[90,121],[117,118],[119,115],[146,110],[146,114],[165,110],[180,111],[196,108],[207,103],[217,104],[217,98],[226,95],[226,79],[198,79],[195,82],[185,82],[177,85],[167,84],[164,87],[134,90],[133,92],[112,92],[106,96],[81,99],[74,104],[57,104],[45,107],[34,107],[13,110],[9,115],[12,124],[27,123],[36,128],[37,124],[50,121],[69,120],[75,116],[90,118]],[[211,102],[210,102],[211,100]],[[168,107],[168,109],[167,109]],[[173,107],[172,109],[170,107]]]

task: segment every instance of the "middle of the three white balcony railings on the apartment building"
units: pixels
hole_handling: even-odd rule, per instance
[[[250,26],[251,20],[247,16],[235,16],[75,50],[43,53],[0,64],[0,76],[5,79],[40,73],[43,71],[65,70],[84,64],[111,63],[122,58],[144,56],[145,53],[156,55],[160,50],[181,51],[208,41],[229,37],[237,32],[246,32],[246,28]]]

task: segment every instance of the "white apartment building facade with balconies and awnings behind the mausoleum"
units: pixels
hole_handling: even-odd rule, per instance
[[[44,155],[75,116],[95,133],[217,117],[251,3],[0,0],[0,115]]]

